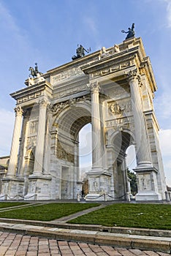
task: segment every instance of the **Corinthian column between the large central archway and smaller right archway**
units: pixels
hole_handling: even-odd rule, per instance
[[[99,113],[99,85],[91,83],[92,169],[102,170],[102,132]]]

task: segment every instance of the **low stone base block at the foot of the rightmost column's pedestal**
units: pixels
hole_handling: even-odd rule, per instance
[[[161,195],[155,192],[138,192],[135,195],[136,201],[160,201],[162,200]]]

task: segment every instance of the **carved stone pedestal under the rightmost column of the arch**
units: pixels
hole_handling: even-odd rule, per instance
[[[154,167],[136,168],[138,193],[135,196],[137,201],[159,201],[161,194],[158,192],[156,174]]]

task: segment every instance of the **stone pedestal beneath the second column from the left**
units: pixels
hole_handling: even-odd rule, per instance
[[[50,176],[34,176],[28,177],[28,194],[25,195],[24,200],[50,200]]]

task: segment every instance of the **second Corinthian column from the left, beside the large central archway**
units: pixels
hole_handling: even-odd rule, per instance
[[[45,148],[45,125],[46,125],[47,102],[42,99],[39,102],[39,124],[37,131],[37,145],[34,159],[33,175],[41,175],[43,171],[43,155]]]

